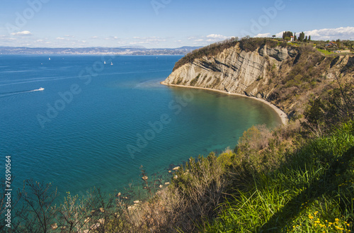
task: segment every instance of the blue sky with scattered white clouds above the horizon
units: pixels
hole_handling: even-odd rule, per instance
[[[354,1],[0,0],[0,46],[172,48],[284,30],[354,40]]]

